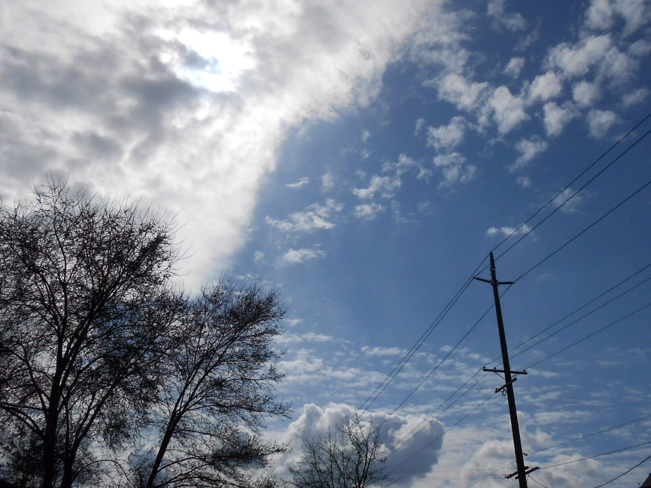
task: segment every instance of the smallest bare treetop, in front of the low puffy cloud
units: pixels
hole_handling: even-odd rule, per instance
[[[344,418],[334,431],[304,439],[300,461],[290,469],[296,488],[367,488],[389,480],[380,431],[358,418]]]

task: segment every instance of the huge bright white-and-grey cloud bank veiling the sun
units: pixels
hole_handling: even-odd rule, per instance
[[[245,239],[288,130],[368,103],[437,5],[5,3],[0,195],[51,170],[74,189],[178,212],[184,279],[198,288]]]

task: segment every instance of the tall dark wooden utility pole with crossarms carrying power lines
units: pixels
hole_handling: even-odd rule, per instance
[[[490,283],[493,286],[493,297],[495,299],[495,314],[497,314],[497,329],[499,331],[499,343],[502,347],[502,362],[504,365],[503,370],[489,369],[484,368],[486,372],[493,373],[504,373],[505,385],[495,388],[495,393],[506,389],[506,398],[508,399],[508,413],[511,416],[511,430],[513,433],[513,446],[516,451],[516,466],[518,470],[512,474],[506,476],[506,478],[516,477],[516,480],[519,481],[519,488],[527,488],[527,474],[538,467],[529,469],[528,466],[525,466],[522,452],[522,442],[520,441],[520,428],[518,425],[518,411],[516,411],[516,396],[513,393],[513,383],[516,381],[517,377],[512,377],[514,374],[527,374],[526,371],[512,371],[510,363],[508,361],[508,347],[506,347],[506,334],[504,332],[504,321],[502,319],[502,307],[499,303],[499,291],[497,291],[497,286],[501,284],[513,284],[512,281],[497,281],[495,275],[495,260],[493,259],[493,252],[490,253],[490,281],[485,280],[484,278],[475,277],[476,280]],[[504,394],[504,393],[503,393]]]

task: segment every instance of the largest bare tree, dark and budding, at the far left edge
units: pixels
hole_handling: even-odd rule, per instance
[[[169,280],[178,248],[173,224],[135,204],[61,181],[34,196],[0,209],[3,469],[68,488],[91,480],[94,443],[122,447],[146,418],[184,303]]]

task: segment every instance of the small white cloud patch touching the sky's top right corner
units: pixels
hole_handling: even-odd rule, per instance
[[[624,34],[628,35],[651,20],[651,11],[645,0],[592,0],[585,12],[585,25],[607,31],[618,17],[624,19]]]

